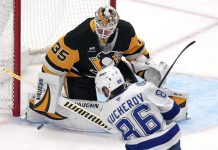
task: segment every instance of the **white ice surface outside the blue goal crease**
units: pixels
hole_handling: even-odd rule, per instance
[[[217,0],[117,0],[120,17],[132,23],[138,37],[145,41],[146,48],[153,58],[171,64],[179,52],[189,42],[195,40],[196,43],[184,52],[172,71],[213,78],[215,81],[218,79],[217,7]],[[24,76],[29,79],[35,77],[32,73],[35,68],[39,71],[39,67],[32,66]],[[28,90],[25,85],[23,88]],[[22,103],[25,105],[26,102]],[[217,139],[218,126],[214,126],[184,133],[181,146],[183,150],[218,150]],[[1,116],[0,149],[124,150],[125,148],[124,143],[111,138],[110,135],[74,132],[49,126],[38,131],[34,124],[21,123]]]

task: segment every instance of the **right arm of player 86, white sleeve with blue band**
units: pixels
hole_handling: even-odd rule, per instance
[[[161,111],[163,118],[167,121],[181,121],[187,117],[187,109],[184,111],[176,101],[169,98],[169,95],[152,83],[147,83],[145,96],[155,104]]]

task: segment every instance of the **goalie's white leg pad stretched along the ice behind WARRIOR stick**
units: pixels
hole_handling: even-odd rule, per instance
[[[62,101],[63,99],[67,99],[67,98],[59,97],[59,101]],[[102,129],[95,124],[95,123],[102,124],[102,122],[106,122],[106,121],[102,120],[101,122],[100,121],[101,118],[95,119],[92,115],[87,115],[86,113],[86,112],[91,112],[93,114],[96,114],[96,116],[101,116],[101,111],[103,109],[105,102],[75,100],[75,99],[67,99],[67,100],[68,101],[70,100],[71,102],[76,103],[77,105],[83,107],[84,110],[81,110],[79,107],[71,104],[66,105],[66,107],[72,109],[72,111],[75,111],[76,113],[73,113],[72,111],[63,108],[63,106],[60,105],[57,105],[56,112],[54,114],[38,113],[32,110],[31,108],[28,108],[27,120],[34,123],[47,122],[55,126],[65,129],[70,129],[70,130],[89,131],[89,132],[107,132],[107,130]],[[84,116],[87,116],[88,119],[90,119],[95,123],[92,123],[87,119],[84,119]],[[111,130],[110,133],[115,133],[115,131]]]

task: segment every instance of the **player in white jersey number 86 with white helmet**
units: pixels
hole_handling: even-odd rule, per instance
[[[96,87],[106,97],[101,116],[126,142],[127,150],[180,150],[180,107],[164,90],[143,81],[127,86],[116,67],[98,72]]]

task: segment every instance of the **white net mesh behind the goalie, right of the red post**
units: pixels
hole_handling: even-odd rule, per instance
[[[22,45],[31,50],[53,44],[108,0],[23,0]],[[23,2],[22,1],[22,2]]]

